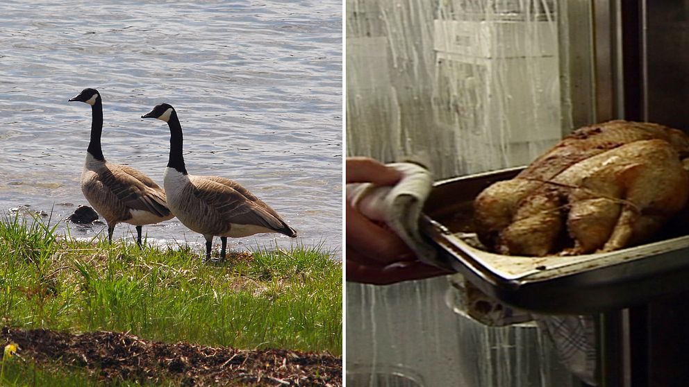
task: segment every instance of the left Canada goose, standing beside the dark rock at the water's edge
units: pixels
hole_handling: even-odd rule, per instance
[[[113,243],[115,225],[136,226],[136,243],[141,247],[141,226],[174,218],[165,203],[165,191],[147,175],[131,166],[107,162],[101,150],[103,104],[98,90],[86,88],[69,101],[91,105],[91,141],[81,173],[81,191],[88,203],[108,223],[108,241]]]

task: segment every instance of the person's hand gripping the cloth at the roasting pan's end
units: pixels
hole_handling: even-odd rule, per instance
[[[402,178],[396,169],[366,157],[347,158],[345,166],[347,183],[394,185]],[[347,281],[392,284],[449,273],[419,261],[387,225],[367,218],[349,201],[345,211]]]

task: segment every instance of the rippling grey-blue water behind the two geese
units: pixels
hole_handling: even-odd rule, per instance
[[[106,160],[162,185],[169,131],[140,116],[170,103],[190,173],[240,182],[299,232],[296,243],[339,255],[340,1],[3,1],[0,46],[1,212],[28,205],[52,210],[55,221],[88,204],[79,178],[91,111],[67,99],[94,87]],[[120,224],[115,237],[133,232]],[[163,243],[204,241],[176,219],[144,232]],[[229,246],[276,243],[295,242],[258,234]]]

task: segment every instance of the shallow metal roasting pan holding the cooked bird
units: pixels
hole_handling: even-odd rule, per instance
[[[588,314],[689,290],[689,231],[673,230],[642,246],[572,257],[499,255],[472,243],[474,198],[521,169],[435,182],[424,207],[422,233],[438,248],[442,262],[481,291],[520,309]]]

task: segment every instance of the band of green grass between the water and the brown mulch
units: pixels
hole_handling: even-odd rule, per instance
[[[40,221],[6,218],[2,325],[342,353],[342,267],[331,253],[260,248],[222,264],[199,253],[76,241]]]

